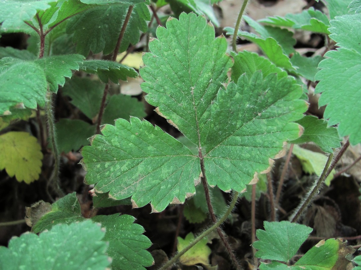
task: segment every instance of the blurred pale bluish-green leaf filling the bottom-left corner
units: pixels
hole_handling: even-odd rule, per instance
[[[104,235],[104,229],[90,220],[58,224],[39,236],[22,234],[12,238],[8,248],[0,247],[0,268],[102,270],[110,265]]]

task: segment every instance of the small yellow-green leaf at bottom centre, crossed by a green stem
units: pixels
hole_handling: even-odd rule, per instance
[[[178,237],[178,245],[177,250],[181,251],[188,244],[190,244],[194,240],[194,235],[192,233],[188,233],[186,238],[182,239]],[[192,248],[190,248],[186,253],[184,253],[179,261],[184,265],[195,265],[195,264],[204,264],[209,265],[208,257],[210,255],[210,248],[207,246],[208,238],[203,238],[197,244],[195,244]]]

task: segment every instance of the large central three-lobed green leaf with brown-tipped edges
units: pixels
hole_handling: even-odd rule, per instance
[[[244,190],[256,172],[268,169],[283,141],[298,137],[299,126],[290,121],[306,110],[305,102],[295,100],[300,86],[258,71],[225,90],[231,66],[226,40],[214,39],[214,28],[195,14],[170,19],[157,37],[140,71],[147,101],[201,149],[210,185]],[[158,127],[131,118],[106,125],[102,133],[82,151],[86,181],[97,192],[132,196],[134,206],[151,202],[153,211],[195,192],[199,157]]]

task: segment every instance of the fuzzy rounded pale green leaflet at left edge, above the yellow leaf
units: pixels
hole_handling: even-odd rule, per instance
[[[0,115],[11,114],[11,108],[35,109],[44,106],[47,81],[42,68],[32,62],[13,58],[0,60]]]

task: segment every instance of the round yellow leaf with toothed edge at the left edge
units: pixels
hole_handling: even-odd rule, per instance
[[[27,132],[11,131],[0,135],[0,170],[30,184],[39,179],[43,153],[38,140]]]

